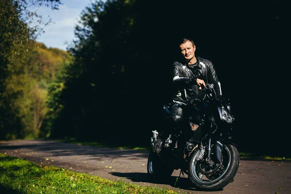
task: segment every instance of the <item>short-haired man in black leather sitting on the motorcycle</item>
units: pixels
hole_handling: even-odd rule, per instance
[[[195,56],[196,46],[193,40],[183,38],[179,42],[179,49],[182,58],[173,63],[173,82],[177,87],[177,93],[173,97],[171,113],[166,119],[165,130],[155,144],[157,152],[161,151],[163,145],[168,147],[171,144],[169,134],[175,132],[175,128],[183,118],[183,110],[191,99],[203,99],[205,94],[201,85],[212,83],[217,97],[222,96],[220,82],[211,61]],[[200,133],[200,131],[197,131]],[[198,141],[198,140],[196,140]]]

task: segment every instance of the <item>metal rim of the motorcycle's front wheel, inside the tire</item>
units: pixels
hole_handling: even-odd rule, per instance
[[[207,167],[207,165],[205,165],[204,162],[202,162],[202,160],[198,161],[196,159],[199,152],[195,154],[194,160],[191,165],[192,171],[191,174],[198,182],[203,184],[205,183],[211,184],[226,174],[228,168],[230,167],[231,153],[227,146],[223,146],[222,151],[223,151],[222,163],[217,165],[212,172],[207,172],[207,170],[203,169],[203,167]]]

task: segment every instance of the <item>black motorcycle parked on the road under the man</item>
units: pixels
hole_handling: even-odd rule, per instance
[[[149,178],[170,178],[180,169],[180,175],[185,173],[199,190],[217,191],[233,182],[240,163],[237,146],[231,141],[235,119],[226,99],[216,97],[213,84],[202,89],[204,99],[187,102],[189,112],[174,134],[162,140],[162,130],[152,131]],[[164,105],[165,117],[169,109],[169,104]],[[157,150],[157,142],[161,150]]]

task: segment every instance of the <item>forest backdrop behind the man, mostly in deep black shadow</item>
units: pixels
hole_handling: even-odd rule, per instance
[[[48,5],[57,9],[58,3],[51,0]],[[15,11],[17,21],[23,21]],[[239,150],[291,156],[285,121],[289,100],[283,90],[289,87],[283,84],[290,64],[284,60],[289,54],[287,13],[279,0],[94,1],[81,13],[75,29],[77,40],[67,48],[68,56],[59,51],[62,62],[47,64],[22,59],[15,65],[11,59],[19,60],[26,47],[20,50],[22,54],[11,57],[11,50],[23,43],[12,47],[3,35],[8,28],[1,28],[0,41],[6,41],[10,49],[0,58],[0,138],[77,138],[148,146],[151,130],[159,128],[163,104],[171,101],[171,64],[179,56],[177,40],[186,36],[194,40],[196,55],[209,59],[216,68],[223,95],[231,101],[236,119],[233,141]],[[1,22],[3,26],[4,20]],[[31,43],[35,37],[26,28]],[[50,55],[48,60],[55,57]],[[29,63],[32,67],[38,64],[33,74],[28,74],[29,68],[19,70]],[[61,65],[50,74],[39,68],[56,63]],[[33,84],[45,94],[39,119],[33,112],[38,98],[24,95],[32,91],[32,84],[27,90],[7,92],[16,79],[11,66],[24,78],[37,75]],[[34,101],[23,105],[23,97]],[[17,112],[19,104],[24,113]],[[25,115],[31,117],[23,120]],[[39,127],[36,132],[31,130],[35,125]]]

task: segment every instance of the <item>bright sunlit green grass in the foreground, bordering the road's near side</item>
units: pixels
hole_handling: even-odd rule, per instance
[[[63,168],[38,165],[0,153],[0,194],[177,194]],[[180,194],[180,193],[179,193]]]

